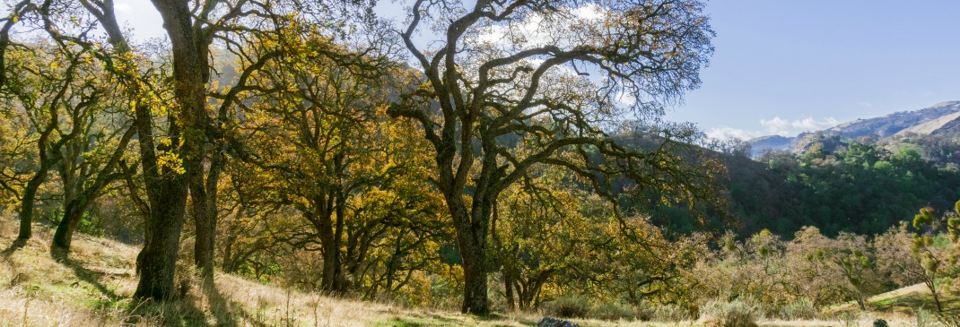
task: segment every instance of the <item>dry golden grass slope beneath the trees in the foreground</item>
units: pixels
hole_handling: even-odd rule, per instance
[[[10,218],[0,218],[0,326],[532,326],[541,316],[515,313],[481,318],[409,309],[279,289],[228,274],[218,274],[215,286],[205,289],[195,279],[180,279],[183,296],[178,301],[134,303],[130,296],[136,287],[136,246],[78,235],[73,252],[63,257],[50,252],[49,229],[36,225],[36,237],[18,245],[14,244],[15,227]],[[834,320],[770,320],[761,325],[870,326],[875,317],[899,321],[891,326],[912,325],[912,317],[889,311],[838,315]],[[695,321],[574,321],[601,327],[702,325]]]

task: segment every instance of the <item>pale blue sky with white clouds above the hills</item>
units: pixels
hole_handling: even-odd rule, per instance
[[[149,0],[115,3],[137,38],[164,35]],[[711,137],[793,136],[960,101],[960,1],[713,0],[706,12],[715,52],[666,118]]]

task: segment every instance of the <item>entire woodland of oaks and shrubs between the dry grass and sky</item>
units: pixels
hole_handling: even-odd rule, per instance
[[[136,298],[215,270],[481,315],[953,292],[948,155],[755,160],[661,120],[712,52],[696,0],[155,0],[150,41],[111,0],[8,4],[0,206],[21,244],[142,245]]]

